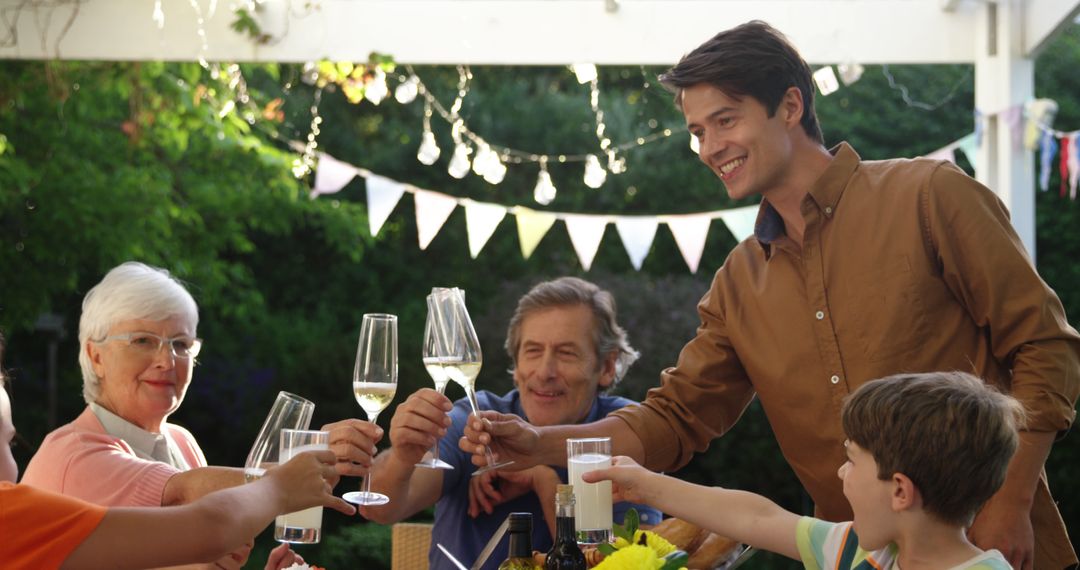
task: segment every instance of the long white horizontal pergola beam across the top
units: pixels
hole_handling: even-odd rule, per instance
[[[9,8],[17,42],[0,37],[0,58],[359,62],[379,52],[409,64],[671,65],[756,18],[812,63],[971,63],[975,8],[953,2],[946,12],[942,1],[621,0],[609,10],[605,0],[315,0],[318,9],[298,13],[303,2],[266,0],[260,19],[274,41],[255,45],[229,28],[230,2],[219,0],[201,53],[190,0],[163,0],[161,29],[149,0],[86,0]],[[198,4],[206,11],[210,1]]]

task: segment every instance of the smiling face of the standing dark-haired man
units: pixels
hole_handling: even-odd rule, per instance
[[[732,200],[767,194],[785,184],[793,125],[801,130],[797,120],[791,121],[791,96],[788,92],[769,117],[765,105],[751,96],[735,99],[707,83],[683,90],[683,114],[701,146],[698,155],[724,181]]]

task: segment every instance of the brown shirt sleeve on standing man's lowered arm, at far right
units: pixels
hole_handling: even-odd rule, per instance
[[[1039,276],[1000,200],[951,164],[931,176],[924,232],[942,276],[980,327],[994,357],[1012,370],[1027,429],[1063,432],[1076,419],[1080,335]]]

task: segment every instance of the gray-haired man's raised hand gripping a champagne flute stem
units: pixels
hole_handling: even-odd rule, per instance
[[[404,463],[416,463],[450,426],[454,403],[430,389],[420,389],[397,406],[390,420],[390,445]]]

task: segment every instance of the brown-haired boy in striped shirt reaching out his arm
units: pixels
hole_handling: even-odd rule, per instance
[[[975,514],[1001,487],[1023,408],[966,372],[895,375],[867,382],[841,411],[848,460],[838,475],[854,520],[801,517],[750,492],[702,487],[624,457],[584,475],[617,497],[808,569],[1009,570],[998,551],[968,540]]]

